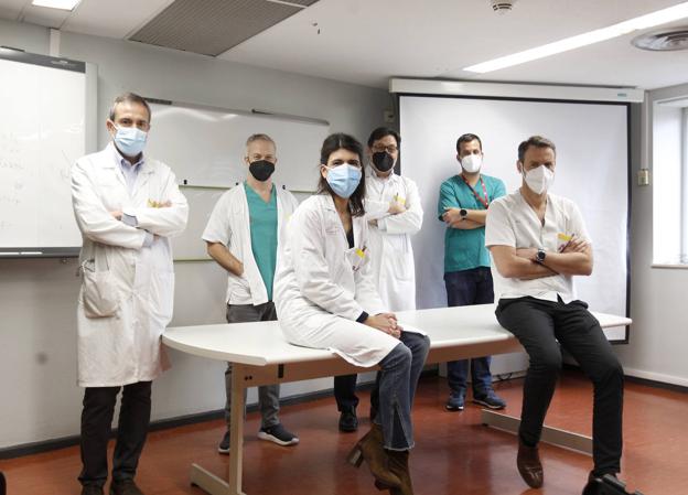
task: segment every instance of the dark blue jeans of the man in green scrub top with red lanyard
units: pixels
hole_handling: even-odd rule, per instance
[[[447,305],[465,306],[491,304],[494,302],[492,273],[490,268],[479,267],[471,270],[449,271],[444,273]],[[471,379],[473,395],[482,396],[492,389],[490,356],[471,359]],[[469,359],[447,363],[447,381],[452,395],[465,395],[469,376]]]

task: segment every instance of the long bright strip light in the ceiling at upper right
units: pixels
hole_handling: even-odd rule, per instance
[[[612,37],[622,36],[633,31],[643,30],[647,28],[654,28],[655,25],[666,24],[667,22],[678,21],[680,19],[688,18],[688,2],[679,3],[678,6],[669,7],[667,9],[657,10],[638,18],[628,19],[627,21],[612,24],[606,28],[590,31],[576,36],[566,37],[563,40],[548,43],[542,46],[526,50],[524,52],[514,53],[512,55],[502,56],[481,64],[471,65],[464,67],[464,71],[487,73],[497,71],[499,68],[510,67],[513,65],[523,64],[526,62],[535,61],[537,58],[544,58],[546,56],[555,55],[557,53],[568,52],[569,50],[580,49],[581,46],[591,45],[601,41],[611,40]]]

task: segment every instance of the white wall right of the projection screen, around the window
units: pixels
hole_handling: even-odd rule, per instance
[[[649,92],[649,108],[654,101],[688,95],[688,84]],[[635,122],[641,121],[636,111]],[[633,177],[642,164],[641,155],[653,157],[652,111],[646,122],[651,132],[647,150],[639,153],[638,126],[634,126]],[[660,163],[648,163],[651,170]],[[631,343],[616,347],[626,374],[669,384],[688,386],[688,324],[686,323],[686,289],[688,269],[652,268],[653,262],[653,195],[664,192],[655,182],[651,186],[633,185],[632,218],[632,282]],[[662,213],[662,212],[658,212]]]

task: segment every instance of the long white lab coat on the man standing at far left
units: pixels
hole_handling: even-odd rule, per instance
[[[184,230],[189,205],[168,165],[146,158],[139,166],[131,195],[112,143],[72,168],[74,214],[84,238],[79,262],[94,260],[92,267],[100,276],[109,271],[117,304],[110,315],[87,316],[82,284],[77,304],[82,387],[148,381],[168,367],[160,337],[172,319],[174,295],[169,237]],[[158,206],[168,201],[171,206]],[[115,219],[112,211],[136,216],[138,227]],[[144,230],[155,235],[150,247],[143,247]]]

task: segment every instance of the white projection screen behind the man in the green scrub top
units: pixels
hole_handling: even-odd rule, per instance
[[[627,314],[628,137],[627,106],[541,100],[400,96],[402,173],[416,181],[424,211],[412,238],[418,308],[447,305],[444,230],[438,219],[440,184],[460,172],[456,139],[471,132],[483,142],[483,172],[502,179],[507,193],[520,186],[518,144],[533,134],[557,146],[552,193],[580,207],[593,241],[591,277],[577,277],[590,309]],[[612,341],[626,329],[605,330]]]

